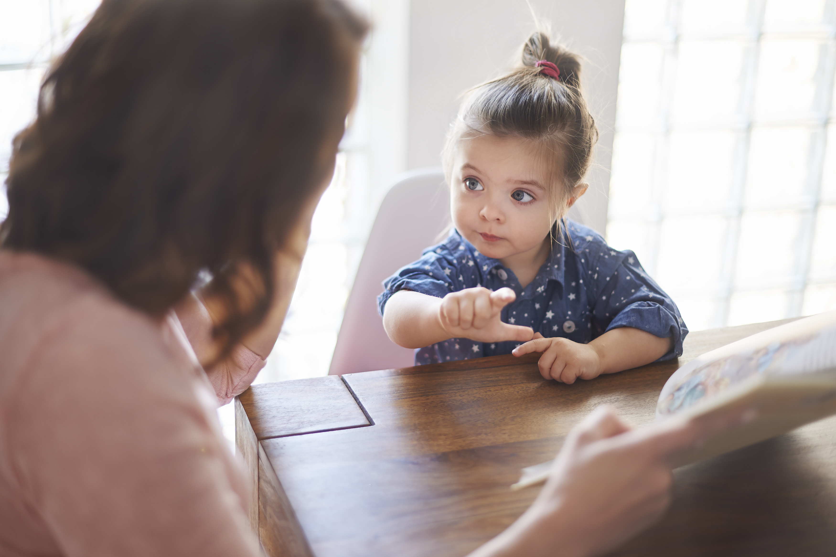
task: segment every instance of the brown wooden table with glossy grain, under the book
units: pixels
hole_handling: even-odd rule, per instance
[[[236,402],[252,524],[270,555],[464,555],[523,513],[538,488],[508,486],[593,408],[649,423],[677,367],[777,324],[694,332],[678,362],[574,385],[530,355],[253,386]],[[612,555],[836,554],[836,418],[680,468],[674,489]]]

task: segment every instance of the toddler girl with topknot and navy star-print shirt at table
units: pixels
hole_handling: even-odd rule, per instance
[[[416,365],[543,352],[543,377],[572,383],[681,355],[680,312],[635,254],[563,218],[598,138],[579,72],[534,33],[463,102],[443,152],[455,229],[378,297]]]

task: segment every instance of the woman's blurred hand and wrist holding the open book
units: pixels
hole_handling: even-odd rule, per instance
[[[568,434],[531,507],[471,557],[588,557],[614,549],[665,512],[676,458],[743,416],[669,418],[633,429],[610,408],[597,408]]]

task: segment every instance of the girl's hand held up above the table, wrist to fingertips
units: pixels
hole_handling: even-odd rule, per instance
[[[480,286],[451,292],[441,301],[441,327],[451,338],[465,337],[477,342],[530,341],[534,336],[531,327],[502,322],[502,308],[516,297],[510,288],[492,292]]]

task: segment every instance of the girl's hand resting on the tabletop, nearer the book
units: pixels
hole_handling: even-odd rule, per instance
[[[571,385],[575,379],[594,379],[601,373],[601,357],[589,344],[580,344],[568,338],[545,338],[539,332],[534,340],[514,348],[514,356],[530,352],[543,352],[537,366],[544,379],[554,379]]]

